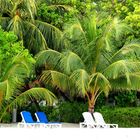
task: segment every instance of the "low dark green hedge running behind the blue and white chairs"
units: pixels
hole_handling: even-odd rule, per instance
[[[83,102],[64,102],[57,107],[41,107],[49,121],[61,121],[69,123],[83,122],[82,113],[87,111],[87,104]],[[25,109],[25,108],[24,108]],[[35,109],[28,107],[28,111],[34,116]],[[109,107],[102,106],[95,111],[102,113],[106,123],[116,123],[119,127],[140,127],[139,107]],[[34,118],[35,120],[35,118]]]

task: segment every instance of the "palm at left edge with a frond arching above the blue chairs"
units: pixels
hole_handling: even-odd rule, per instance
[[[56,102],[56,96],[33,79],[34,61],[24,51],[13,57],[3,70],[0,76],[0,121],[7,111],[31,101],[46,100],[48,105]]]

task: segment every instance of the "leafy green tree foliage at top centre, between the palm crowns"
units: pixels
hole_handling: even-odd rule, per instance
[[[72,22],[75,17],[84,17],[90,15],[95,4],[91,1],[45,1],[39,4],[38,18],[62,29],[64,24]]]

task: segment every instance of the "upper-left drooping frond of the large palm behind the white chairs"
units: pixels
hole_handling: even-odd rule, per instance
[[[63,38],[66,38],[68,42],[70,42],[66,48],[76,53],[82,60],[86,61],[86,56],[89,54],[89,42],[86,37],[86,31],[84,31],[78,19],[76,19],[74,23],[65,25]]]

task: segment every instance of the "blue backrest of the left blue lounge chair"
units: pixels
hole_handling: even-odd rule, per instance
[[[22,117],[22,121],[24,123],[34,123],[32,115],[31,115],[30,112],[22,111],[22,112],[20,112],[20,114],[21,114],[21,117]]]

